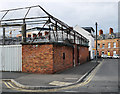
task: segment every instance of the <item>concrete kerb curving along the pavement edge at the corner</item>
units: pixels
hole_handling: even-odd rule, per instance
[[[78,83],[81,83],[92,72],[92,70],[94,70],[97,67],[98,64],[99,63],[97,63],[94,67],[92,67],[87,73],[85,73],[75,83],[72,83],[69,85],[64,85],[64,86],[28,86],[28,85],[22,85],[22,84],[18,83],[17,81],[15,81],[14,79],[4,79],[3,81],[11,81],[14,85],[18,86],[19,88],[31,89],[31,90],[63,88],[63,87],[68,87],[68,86],[72,86],[72,85],[76,85]]]

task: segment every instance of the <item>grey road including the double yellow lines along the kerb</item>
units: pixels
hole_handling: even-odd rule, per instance
[[[3,91],[6,92],[26,92],[22,90],[13,90],[3,84]],[[28,90],[27,92],[41,92],[41,90]],[[89,74],[82,83],[60,88],[47,90],[46,92],[64,92],[80,93],[90,92],[107,92],[108,94],[116,94],[118,92],[118,59],[104,59],[93,71]],[[113,92],[113,93],[110,93]],[[50,93],[53,94],[53,93]],[[106,94],[106,93],[105,93]]]

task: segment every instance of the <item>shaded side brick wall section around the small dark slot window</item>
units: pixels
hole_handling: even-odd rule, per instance
[[[65,59],[63,59],[65,53]],[[65,70],[73,66],[73,48],[69,46],[54,45],[54,72]]]

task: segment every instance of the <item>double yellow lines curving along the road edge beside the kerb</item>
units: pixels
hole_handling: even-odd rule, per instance
[[[81,87],[81,86],[88,84],[92,80],[92,78],[94,77],[94,75],[96,74],[96,72],[98,71],[100,66],[102,65],[102,62],[92,71],[90,76],[88,76],[87,80],[85,80],[84,82],[82,82],[80,84],[76,84],[76,85],[72,85],[72,86],[68,86],[68,87],[63,87],[63,88],[58,88],[58,89],[27,90],[27,89],[14,87],[10,82],[5,82],[5,81],[3,81],[3,82],[9,89],[15,89],[15,90],[24,91],[24,92],[52,92],[52,91],[58,91],[58,90],[62,90],[62,89],[71,89],[71,88]]]

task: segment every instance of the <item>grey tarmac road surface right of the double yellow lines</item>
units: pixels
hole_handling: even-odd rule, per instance
[[[104,59],[93,78],[84,86],[59,91],[118,94],[118,59]]]

